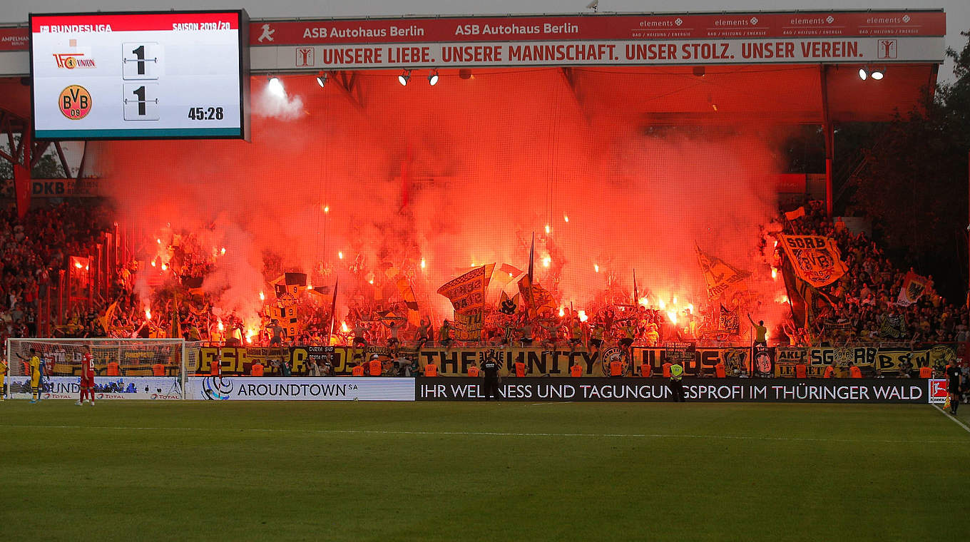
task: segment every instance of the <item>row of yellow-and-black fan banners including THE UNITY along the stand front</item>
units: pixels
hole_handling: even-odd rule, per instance
[[[374,355],[384,362],[386,372],[395,372],[395,354],[385,346],[284,346],[266,347],[203,347],[198,356],[188,356],[188,373],[210,372],[216,354],[221,353],[222,374],[249,374],[251,366],[257,361],[264,366],[267,376],[278,374],[277,362],[286,362],[293,374],[307,374],[309,363],[329,362],[334,374],[347,375],[356,363],[370,360]],[[920,367],[942,368],[957,357],[954,343],[935,344],[914,350],[903,348],[880,348],[878,346],[849,347],[768,347],[754,352],[750,347],[703,347],[687,343],[677,343],[666,347],[633,347],[633,361],[625,358],[624,349],[607,346],[598,352],[585,349],[567,348],[544,349],[541,347],[490,348],[459,346],[444,348],[429,346],[420,351],[402,348],[396,359],[410,365],[416,372],[423,372],[428,364],[435,364],[441,376],[464,376],[472,365],[480,366],[486,359],[499,362],[500,374],[514,373],[516,363],[525,364],[530,376],[569,376],[569,367],[579,365],[583,376],[606,376],[609,363],[621,361],[623,375],[639,377],[642,366],[650,367],[653,375],[663,374],[663,364],[677,362],[683,365],[684,373],[690,376],[713,376],[715,367],[723,364],[727,374],[739,373],[742,369],[756,376],[793,376],[794,366],[804,363],[808,376],[824,374],[824,368],[834,365],[840,373],[847,372],[850,362],[869,373],[880,369],[885,374],[895,374],[901,367],[909,365],[914,370]],[[125,375],[148,374],[147,367],[123,366]],[[141,372],[137,369],[141,369]]]

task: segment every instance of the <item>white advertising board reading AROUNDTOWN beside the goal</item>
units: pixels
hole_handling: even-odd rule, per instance
[[[413,378],[189,377],[185,399],[414,400]]]

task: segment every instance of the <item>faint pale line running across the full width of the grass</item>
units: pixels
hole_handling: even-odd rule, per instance
[[[958,422],[957,422],[958,423]],[[962,424],[960,424],[962,425]],[[610,433],[610,432],[500,432],[500,431],[424,431],[424,430],[285,430],[271,428],[135,428],[127,426],[31,426],[3,424],[0,428],[49,429],[49,430],[175,430],[175,431],[230,431],[230,432],[288,432],[323,434],[420,434],[459,436],[587,436],[619,438],[707,438],[727,440],[778,440],[792,442],[881,442],[888,444],[965,444],[964,440],[876,440],[848,438],[806,438],[797,436],[746,436],[727,434],[662,434],[662,433]]]

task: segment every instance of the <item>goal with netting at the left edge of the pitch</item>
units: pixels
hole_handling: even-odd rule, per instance
[[[36,355],[46,367],[44,397],[73,399],[84,354],[90,353],[95,392],[106,399],[180,399],[184,361],[193,350],[198,350],[194,343],[186,347],[176,338],[11,338],[7,393],[16,398],[29,391],[28,362]]]

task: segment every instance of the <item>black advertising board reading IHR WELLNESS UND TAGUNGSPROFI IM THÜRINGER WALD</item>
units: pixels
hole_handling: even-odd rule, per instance
[[[701,402],[913,402],[926,404],[929,380],[781,378],[684,379],[684,396]],[[414,400],[484,400],[480,378],[416,378]],[[503,378],[501,400],[670,401],[660,378]]]

